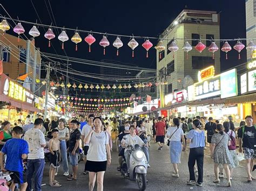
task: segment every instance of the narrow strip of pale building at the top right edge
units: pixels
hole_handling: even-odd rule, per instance
[[[256,38],[256,1],[245,0],[246,11],[246,38],[247,44]],[[251,51],[247,50],[247,60],[251,59]]]

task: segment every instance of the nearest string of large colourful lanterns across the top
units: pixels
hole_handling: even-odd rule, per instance
[[[10,29],[10,26],[8,22],[6,22],[5,19],[2,20],[0,23],[0,30],[3,32],[8,31]],[[18,22],[18,24],[14,27],[14,32],[18,34],[18,41],[19,36],[25,32],[24,27],[22,26],[21,22]],[[36,25],[33,25],[32,28],[29,31],[30,36],[33,38],[38,37],[40,35],[39,30],[37,29]],[[52,31],[52,26],[49,26],[48,31],[45,32],[44,37],[49,40],[48,46],[51,46],[50,41],[54,39],[56,36]],[[64,43],[65,41],[69,40],[68,34],[66,34],[65,29],[62,30],[62,32],[59,34],[58,39],[62,41],[62,49],[64,49]],[[192,40],[198,40],[198,44],[194,47],[199,53],[203,52],[206,48],[206,45],[201,42],[200,39],[192,39]],[[216,39],[215,39],[216,40]],[[81,43],[83,41],[82,37],[80,37],[79,32],[76,30],[75,34],[73,34],[71,41],[76,44],[75,50],[78,50],[78,43]],[[84,41],[89,45],[89,52],[91,52],[91,45],[95,43],[96,39],[93,37],[93,32],[90,32],[85,38]],[[211,40],[212,43],[208,47],[208,51],[212,53],[212,59],[214,59],[214,53],[219,50],[219,47],[215,44],[214,40]],[[106,47],[110,45],[109,40],[107,39],[107,35],[104,34],[102,39],[99,41],[99,45],[103,47],[103,54],[106,54]],[[119,55],[119,48],[123,47],[123,42],[120,39],[119,36],[117,36],[116,40],[114,40],[113,44],[114,47],[117,48],[117,56]],[[132,37],[132,39],[127,43],[127,45],[132,49],[132,57],[134,57],[134,49],[139,45],[138,42]],[[146,58],[149,57],[149,49],[152,48],[153,44],[151,43],[149,38],[146,38],[144,43],[142,44],[143,48],[146,50]],[[157,45],[154,47],[157,49],[157,51],[160,53],[159,58],[161,59],[161,52],[165,50],[165,46],[163,44],[163,40],[159,39]],[[167,47],[169,51],[173,52],[173,58],[174,58],[174,52],[179,50],[179,47],[177,45],[177,39],[173,39],[170,45]],[[238,59],[240,58],[240,52],[242,49],[245,48],[245,45],[242,44],[242,40],[237,40],[237,43],[233,46],[233,49],[235,49],[238,52]],[[188,56],[188,52],[190,52],[193,48],[188,43],[187,40],[185,40],[183,47],[181,48],[185,53],[186,56]],[[256,45],[251,40],[250,43],[246,46],[246,49],[253,52],[256,49]],[[230,44],[228,44],[228,40],[225,40],[224,45],[221,47],[221,51],[226,53],[226,59],[227,59],[227,53],[232,50],[232,47]]]

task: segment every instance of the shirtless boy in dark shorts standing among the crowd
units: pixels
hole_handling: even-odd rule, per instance
[[[60,148],[59,148],[59,131],[53,129],[52,138],[49,141],[49,151],[50,151],[50,171],[49,171],[49,185],[52,187],[60,187],[60,183],[55,180],[56,169],[59,167],[60,161]]]

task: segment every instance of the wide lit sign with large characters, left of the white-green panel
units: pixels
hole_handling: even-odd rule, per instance
[[[195,83],[194,90],[196,100],[220,95],[220,75]]]

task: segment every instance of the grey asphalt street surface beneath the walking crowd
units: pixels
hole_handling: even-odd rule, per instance
[[[214,180],[213,171],[213,159],[210,158],[209,148],[205,151],[204,157],[204,182],[203,187],[196,185],[186,185],[186,181],[189,180],[189,172],[187,167],[189,150],[181,154],[181,164],[179,165],[179,178],[174,178],[172,174],[172,165],[170,162],[169,147],[164,146],[162,151],[157,150],[156,143],[151,143],[150,147],[150,165],[147,172],[147,189],[146,190],[255,190],[256,180],[247,182],[247,175],[244,167],[244,162],[241,162],[240,167],[234,170],[232,187],[227,187],[227,180],[220,179],[220,183],[216,184]],[[124,179],[117,168],[117,152],[116,148],[113,148],[112,163],[107,167],[107,171],[104,177],[104,190],[124,190],[132,191],[138,190],[137,182]],[[71,173],[71,166],[70,166]],[[63,176],[62,167],[59,169],[59,173],[56,176],[56,180],[60,181],[62,187],[50,187],[49,186],[49,162],[45,164],[44,178],[42,184],[42,190],[88,190],[89,175],[84,175],[84,163],[79,163],[79,175],[77,181],[67,181]],[[225,173],[224,173],[225,174]],[[253,172],[254,177],[256,171]],[[95,190],[97,183],[95,185]]]

